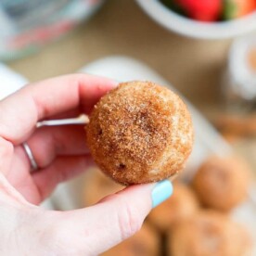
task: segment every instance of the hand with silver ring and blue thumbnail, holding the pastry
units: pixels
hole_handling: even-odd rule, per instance
[[[76,211],[36,206],[58,183],[92,164],[83,126],[36,130],[36,122],[88,114],[115,85],[105,78],[68,75],[28,85],[0,102],[1,255],[97,255],[132,236],[152,202],[171,195],[172,186],[164,182],[130,186]],[[38,172],[30,172],[23,142],[31,147]]]

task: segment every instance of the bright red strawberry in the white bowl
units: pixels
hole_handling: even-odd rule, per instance
[[[177,6],[184,9],[188,17],[201,21],[214,21],[220,18],[222,0],[174,0]]]

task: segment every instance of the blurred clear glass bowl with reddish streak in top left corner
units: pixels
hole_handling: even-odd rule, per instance
[[[11,3],[10,3],[11,2]],[[22,58],[69,34],[105,0],[0,1],[0,59]]]

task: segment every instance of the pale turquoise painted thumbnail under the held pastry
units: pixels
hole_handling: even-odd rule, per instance
[[[170,198],[173,194],[173,185],[169,180],[160,181],[154,186],[152,190],[152,205],[153,208],[158,206],[161,202]]]

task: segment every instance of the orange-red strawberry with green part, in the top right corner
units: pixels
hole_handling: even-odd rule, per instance
[[[236,19],[256,10],[256,0],[224,0],[224,19]]]

